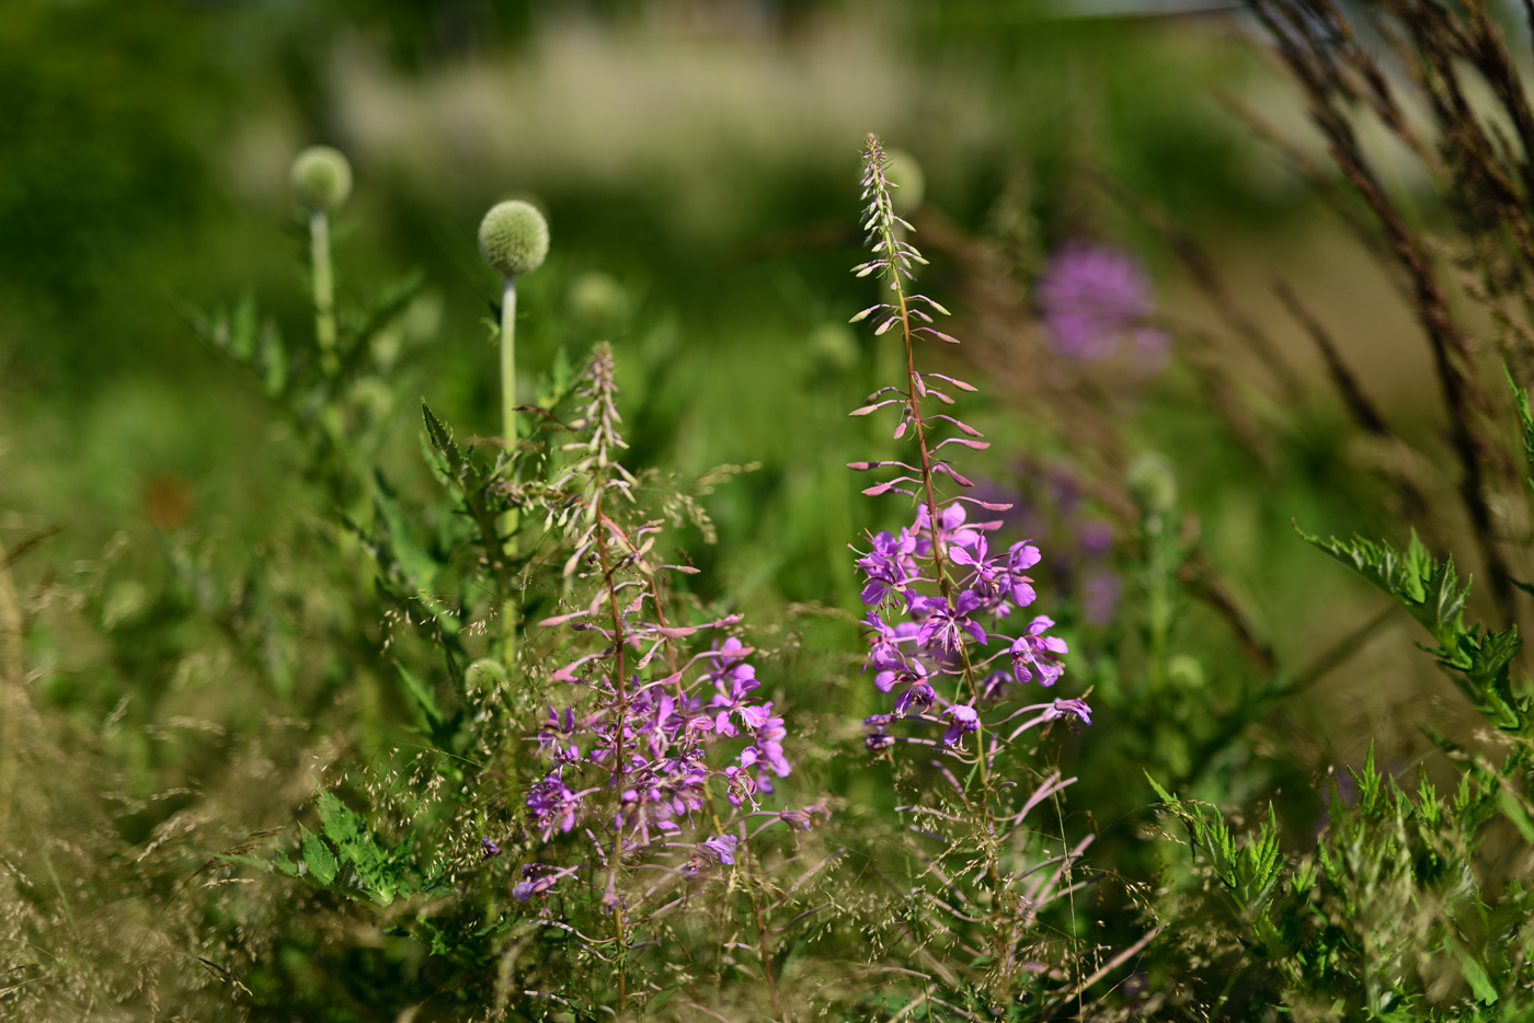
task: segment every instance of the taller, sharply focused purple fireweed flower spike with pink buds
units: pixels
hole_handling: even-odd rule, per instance
[[[907,345],[907,380],[904,387],[874,391],[853,416],[894,406],[899,411],[894,439],[908,437],[916,446],[910,460],[850,463],[858,471],[897,469],[893,479],[864,492],[905,494],[916,503],[910,526],[899,535],[871,535],[868,549],[858,558],[864,577],[862,601],[871,607],[864,618],[868,626],[864,670],[873,673],[879,692],[894,693],[893,713],[873,715],[864,722],[867,745],[881,752],[897,741],[931,742],[888,733],[897,718],[916,718],[942,724],[940,742],[957,747],[965,736],[982,730],[982,712],[1005,699],[1012,686],[1052,687],[1065,670],[1066,643],[1049,635],[1054,621],[1046,615],[1032,617],[1022,629],[1005,629],[1014,612],[1037,598],[1028,571],[1039,563],[1039,548],[1031,541],[992,548],[989,534],[1000,529],[1002,520],[971,521],[969,512],[1003,512],[1009,506],[963,495],[939,497],[940,477],[960,488],[973,486],[953,468],[945,449],[988,445],[980,431],[939,411],[956,403],[950,391],[974,391],[974,387],[916,370],[916,339],[957,342],[931,327],[933,313],[946,314],[942,305],[923,294],[907,294],[914,267],[925,259],[905,239],[911,225],[894,213],[887,158],[873,137],[864,167],[864,198],[868,201],[864,227],[870,232],[874,259],[854,271],[859,276],[881,271],[894,301],[865,308],[853,322],[873,317],[877,321],[874,334],[900,330]],[[939,433],[950,436],[939,439]],[[1012,725],[1016,718],[1032,712],[1039,713]],[[1060,718],[1091,724],[1091,709],[1080,699],[1028,704],[991,727],[999,729],[997,736],[1005,741]],[[979,750],[976,756],[988,759]]]

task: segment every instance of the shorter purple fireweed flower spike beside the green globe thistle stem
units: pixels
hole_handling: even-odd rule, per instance
[[[761,699],[753,650],[727,635],[689,650],[695,636],[726,633],[739,615],[686,626],[666,618],[660,580],[693,569],[655,564],[661,521],[634,525],[621,511],[640,482],[617,460],[626,445],[615,393],[612,351],[598,345],[581,388],[588,403],[571,423],[581,439],[565,446],[578,457],[549,488],[566,495],[549,508],[549,525],[574,540],[565,574],[595,589],[580,610],[540,623],[595,643],[551,675],[569,696],[549,706],[538,727],[546,773],[526,793],[528,821],[543,842],[583,828],[611,894],[617,871],[641,851],[672,857],[663,870],[692,880],[735,863],[749,817],[807,827],[818,813],[761,808],[772,779],[792,765],[784,719]],[[703,834],[683,840],[689,831]],[[523,873],[518,899],[546,894],[574,871],[529,863]],[[609,908],[618,899],[612,894]]]

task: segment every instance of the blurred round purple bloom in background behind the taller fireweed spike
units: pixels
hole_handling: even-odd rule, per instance
[[[1104,359],[1127,342],[1137,362],[1160,368],[1166,357],[1166,331],[1146,324],[1155,311],[1150,278],[1126,252],[1068,242],[1051,258],[1035,294],[1045,327],[1063,356]]]

